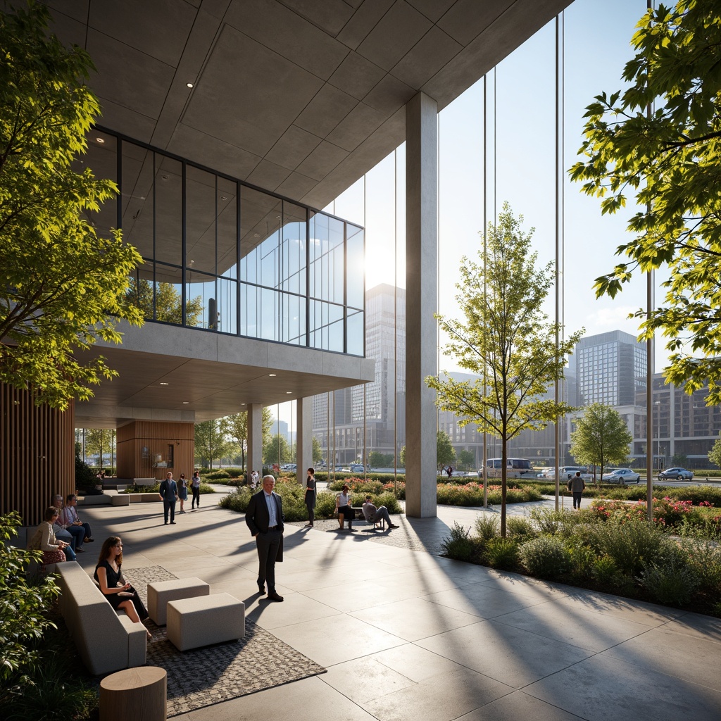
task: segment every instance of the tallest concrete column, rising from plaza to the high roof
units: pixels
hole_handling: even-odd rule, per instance
[[[438,107],[420,92],[406,105],[406,513],[436,515],[435,376]]]

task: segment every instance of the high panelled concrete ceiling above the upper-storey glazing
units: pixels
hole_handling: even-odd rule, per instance
[[[99,123],[324,208],[571,0],[48,0]],[[193,87],[187,87],[192,83]]]

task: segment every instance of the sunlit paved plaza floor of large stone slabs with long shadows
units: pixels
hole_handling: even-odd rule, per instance
[[[102,540],[122,536],[126,570],[202,578],[327,673],[176,719],[721,719],[721,619],[438,556],[454,521],[472,526],[478,509],[394,517],[392,531],[287,524],[285,602],[273,603],[257,593],[244,517],[217,500],[186,503],[174,526],[160,504],[84,506],[97,542],[78,560],[92,571]]]

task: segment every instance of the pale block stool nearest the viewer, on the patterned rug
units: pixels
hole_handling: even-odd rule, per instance
[[[245,636],[245,603],[229,593],[168,603],[168,640],[179,651]]]

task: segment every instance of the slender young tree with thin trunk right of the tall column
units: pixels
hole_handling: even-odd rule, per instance
[[[437,316],[450,338],[443,354],[455,357],[464,371],[479,379],[425,379],[438,392],[438,407],[458,416],[460,425],[474,423],[480,432],[500,438],[502,536],[508,441],[526,428],[541,430],[572,410],[549,399],[547,392],[562,377],[566,355],[581,336],[574,333],[557,347],[560,328],[541,310],[552,285],[553,265],[536,270],[533,231],[523,233],[522,220],[516,220],[504,203],[497,225],[488,226],[479,262],[461,260],[456,297],[465,321]]]

